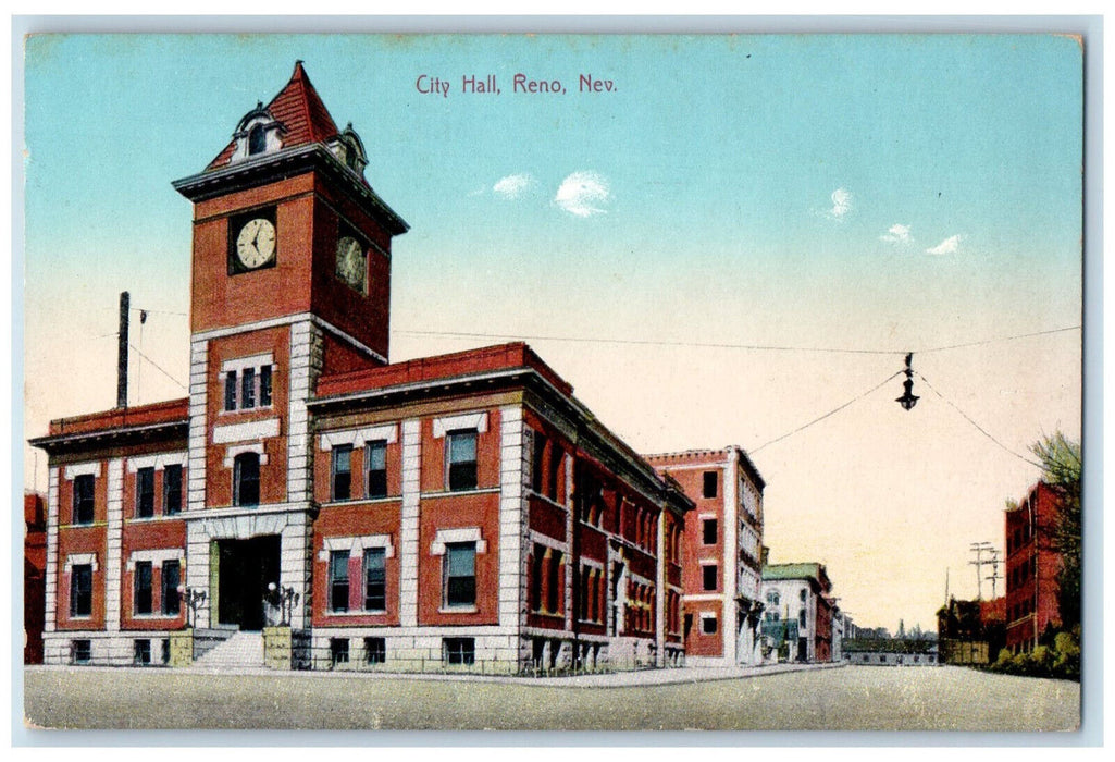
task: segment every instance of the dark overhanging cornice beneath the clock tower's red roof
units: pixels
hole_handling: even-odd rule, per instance
[[[263,154],[235,164],[229,164],[216,170],[205,170],[188,177],[175,180],[171,185],[190,201],[197,203],[223,195],[232,190],[258,185],[290,177],[302,168],[318,165],[330,175],[355,191],[358,200],[363,202],[366,211],[371,216],[382,221],[391,235],[401,235],[410,230],[406,220],[387,205],[379,194],[369,185],[359,181],[337,156],[322,143],[307,143],[291,148],[284,148],[273,154]]]

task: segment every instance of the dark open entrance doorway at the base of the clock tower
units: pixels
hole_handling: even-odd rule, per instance
[[[279,583],[279,536],[217,542],[217,621],[263,629],[263,597]]]

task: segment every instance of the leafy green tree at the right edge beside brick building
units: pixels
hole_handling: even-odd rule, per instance
[[[1043,481],[1055,488],[1061,502],[1049,538],[1050,549],[1060,554],[1057,604],[1061,626],[1073,630],[1080,624],[1080,444],[1057,432],[1030,446],[1041,462]]]

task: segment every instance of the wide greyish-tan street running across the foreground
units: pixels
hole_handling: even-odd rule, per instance
[[[653,684],[661,677],[646,673],[649,684],[601,687],[36,667],[25,672],[26,716],[75,729],[1056,731],[1079,722],[1077,683],[960,667],[706,674],[718,679]]]

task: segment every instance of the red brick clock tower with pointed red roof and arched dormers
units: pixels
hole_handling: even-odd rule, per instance
[[[307,402],[323,373],[387,364],[391,239],[407,231],[367,162],[298,61],[174,183],[194,210],[186,585],[207,591],[202,627],[255,628],[245,577],[309,598]]]

